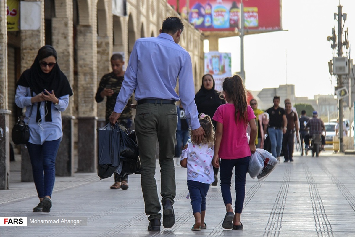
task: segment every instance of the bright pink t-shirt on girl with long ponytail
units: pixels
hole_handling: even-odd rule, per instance
[[[250,147],[246,136],[247,124],[235,122],[234,104],[222,104],[213,115],[213,120],[223,124],[223,136],[219,147],[219,158],[238,159],[250,156]],[[239,112],[238,112],[239,116]],[[255,117],[253,109],[247,107],[248,121]]]

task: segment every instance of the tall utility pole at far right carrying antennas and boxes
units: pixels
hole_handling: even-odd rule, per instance
[[[342,42],[342,34],[343,34],[343,13],[342,7],[338,6],[338,57],[343,56],[343,42]],[[338,75],[338,86],[343,86],[343,78],[342,75]],[[344,152],[344,143],[343,143],[343,98],[339,98],[339,150],[340,152]]]

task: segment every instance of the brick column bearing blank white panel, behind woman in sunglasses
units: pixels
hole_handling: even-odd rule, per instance
[[[26,21],[26,17],[31,16],[33,11],[39,12],[37,18]],[[21,72],[23,72],[31,67],[38,49],[44,45],[44,1],[21,1],[21,19],[26,21],[21,21]],[[31,182],[32,166],[24,145],[21,146],[21,158],[21,181]]]

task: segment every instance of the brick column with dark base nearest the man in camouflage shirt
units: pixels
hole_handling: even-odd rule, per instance
[[[92,21],[94,22],[94,21]],[[96,22],[96,20],[95,20]],[[77,26],[78,172],[97,171],[96,23]]]

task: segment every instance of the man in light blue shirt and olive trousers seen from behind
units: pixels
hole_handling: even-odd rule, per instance
[[[155,181],[156,142],[159,141],[159,164],[163,204],[163,226],[173,227],[175,185],[175,134],[178,122],[176,101],[181,99],[191,123],[191,138],[200,144],[204,130],[198,121],[190,54],[178,43],[184,29],[180,18],[167,17],[158,37],[140,38],[133,46],[129,64],[117,97],[111,124],[120,117],[135,91],[137,112],[135,126],[141,159],[141,184],[148,231],[160,231],[160,203]],[[179,95],[175,92],[179,78]]]

